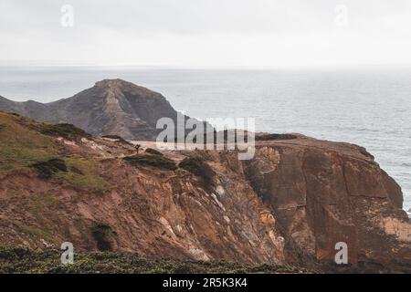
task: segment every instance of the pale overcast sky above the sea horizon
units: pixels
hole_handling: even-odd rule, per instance
[[[0,0],[0,11],[2,64],[411,65],[409,0]]]

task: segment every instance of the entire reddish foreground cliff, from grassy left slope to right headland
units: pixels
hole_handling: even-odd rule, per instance
[[[400,187],[364,148],[300,135],[256,147],[243,162],[235,151],[141,150],[136,164],[125,141],[67,137],[0,113],[0,245],[411,271]],[[186,157],[207,172],[161,163]],[[338,242],[349,265],[333,264]]]

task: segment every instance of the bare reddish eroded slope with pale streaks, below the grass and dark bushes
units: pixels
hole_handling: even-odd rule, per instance
[[[99,193],[31,174],[8,176],[0,186],[1,244],[46,248],[69,241],[79,251],[96,250],[92,229],[102,223],[111,227],[108,240],[116,251],[284,264],[283,239],[269,208],[236,172],[211,163],[213,192],[190,173],[121,160],[100,162],[108,186]]]

